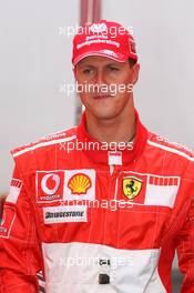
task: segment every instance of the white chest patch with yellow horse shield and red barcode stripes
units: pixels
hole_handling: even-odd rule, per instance
[[[133,204],[173,208],[180,188],[180,176],[162,176],[124,171],[120,181],[121,198]]]

